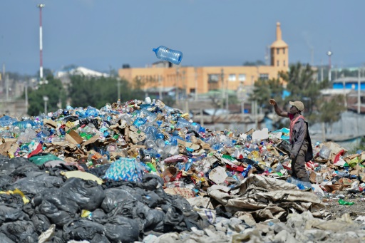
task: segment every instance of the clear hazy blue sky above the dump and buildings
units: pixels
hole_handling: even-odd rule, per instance
[[[98,71],[145,67],[152,48],[183,52],[183,66],[240,66],[264,61],[276,22],[289,44],[290,63],[355,66],[365,62],[364,0],[1,0],[0,63],[36,74],[39,10],[43,68],[75,64]]]

